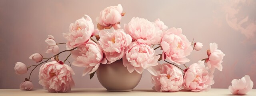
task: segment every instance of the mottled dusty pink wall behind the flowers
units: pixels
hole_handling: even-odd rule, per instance
[[[95,18],[100,10],[117,4],[122,4],[126,12],[122,25],[133,16],[152,22],[160,18],[169,28],[182,28],[191,42],[193,38],[202,42],[203,49],[193,51],[187,65],[205,58],[209,43],[216,42],[226,56],[223,71],[214,73],[212,88],[228,88],[233,79],[246,74],[256,83],[255,0],[0,0],[0,89],[19,88],[24,78],[28,78],[29,73],[15,74],[15,62],[24,62],[27,66],[35,64],[28,57],[36,52],[52,56],[45,54],[44,40],[48,34],[59,43],[66,42],[62,32],[68,32],[70,23],[88,14],[96,25]],[[63,54],[61,59],[67,55]],[[90,80],[89,75],[82,77],[84,68],[72,68],[76,73],[73,76],[75,88],[103,88],[97,76]],[[38,71],[39,68],[34,70],[31,81],[35,88],[43,88],[38,84]],[[136,88],[152,86],[151,76],[145,70]]]

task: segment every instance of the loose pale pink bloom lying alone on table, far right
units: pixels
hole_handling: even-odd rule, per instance
[[[228,87],[228,90],[232,94],[244,95],[250,90],[252,90],[253,82],[249,75],[245,75],[241,79],[232,80],[232,86]]]

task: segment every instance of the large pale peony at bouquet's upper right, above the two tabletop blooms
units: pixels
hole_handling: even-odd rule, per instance
[[[186,56],[193,50],[190,45],[191,43],[186,36],[182,34],[181,28],[170,28],[164,32],[161,40],[163,49],[162,59],[165,60],[168,58],[178,65],[189,62],[189,59],[186,58]]]

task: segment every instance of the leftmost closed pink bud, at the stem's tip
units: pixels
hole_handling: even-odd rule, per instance
[[[16,62],[14,70],[15,70],[15,73],[19,75],[25,74],[28,72],[27,66],[22,62]]]

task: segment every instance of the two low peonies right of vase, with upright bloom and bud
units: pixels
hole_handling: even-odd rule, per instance
[[[196,46],[197,44],[199,45]],[[201,48],[201,43],[197,42],[194,44],[194,49]],[[225,54],[217,49],[216,43],[210,43],[210,50],[207,52],[210,52],[208,55],[209,57],[204,60],[206,60],[208,66],[205,66],[205,62],[200,60],[186,68],[184,70],[184,76],[178,75],[177,73],[182,74],[181,70],[179,70],[176,66],[170,66],[170,64],[162,64],[160,68],[155,68],[158,75],[152,76],[152,82],[154,83],[153,89],[158,92],[175,92],[181,90],[182,88],[195,92],[210,89],[211,85],[214,84],[214,68],[218,68],[218,66],[214,65],[219,64],[219,66],[222,66],[221,63]],[[214,59],[212,59],[213,57]],[[178,64],[177,62],[175,63]],[[222,67],[219,70],[222,70]]]

